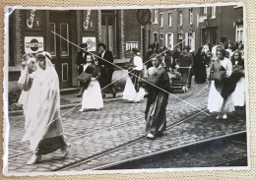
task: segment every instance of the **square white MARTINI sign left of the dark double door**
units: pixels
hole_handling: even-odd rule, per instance
[[[43,51],[43,37],[42,36],[26,36],[25,52],[37,53],[38,51]]]

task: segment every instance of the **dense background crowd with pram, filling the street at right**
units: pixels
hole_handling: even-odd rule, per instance
[[[144,58],[147,69],[152,67],[150,56],[153,53],[161,54],[162,64],[167,71],[179,72],[182,79],[187,82],[187,87],[191,88],[191,78],[195,76],[196,83],[205,83],[210,76],[210,67],[213,61],[217,59],[217,48],[225,49],[225,57],[233,61],[234,52],[244,58],[244,45],[242,42],[220,42],[214,45],[206,43],[200,47],[197,52],[191,50],[189,46],[176,46],[173,50],[170,47],[160,47],[158,43],[148,45],[148,52]]]

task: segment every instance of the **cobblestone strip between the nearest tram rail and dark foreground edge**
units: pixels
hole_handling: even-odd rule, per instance
[[[154,141],[144,139],[134,145],[102,155],[94,160],[80,165],[64,169],[72,171],[102,169],[108,165],[118,164],[119,161],[129,161],[145,156],[150,156],[165,150],[177,150],[189,144],[206,141],[228,134],[245,131],[245,117],[243,112],[232,115],[229,120],[216,120],[200,113],[178,126],[175,126],[166,134]]]

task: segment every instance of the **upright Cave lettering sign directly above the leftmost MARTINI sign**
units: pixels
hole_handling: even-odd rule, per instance
[[[28,10],[26,11],[26,27],[27,30],[41,30],[41,11]]]

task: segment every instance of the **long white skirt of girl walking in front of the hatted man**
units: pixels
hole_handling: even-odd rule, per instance
[[[103,99],[101,96],[101,90],[96,78],[91,78],[90,84],[83,93],[82,108],[85,109],[99,109],[103,107]]]

